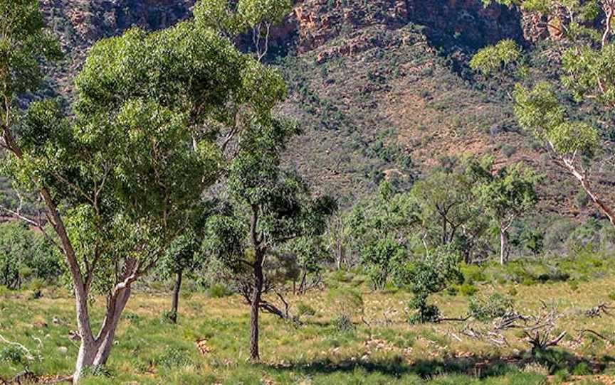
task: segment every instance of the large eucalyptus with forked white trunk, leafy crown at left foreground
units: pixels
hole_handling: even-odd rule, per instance
[[[261,119],[283,81],[219,33],[194,21],[101,40],[75,80],[73,114],[54,100],[21,108],[41,82],[39,59],[56,43],[33,0],[0,1],[3,166],[17,188],[36,191],[48,234],[75,294],[80,349],[73,381],[104,365],[132,285],[188,227],[201,192],[220,175],[217,140],[246,106]],[[46,232],[45,223],[9,210]],[[104,293],[98,332],[91,299]]]

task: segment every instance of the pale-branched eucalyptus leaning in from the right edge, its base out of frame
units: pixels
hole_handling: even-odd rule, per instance
[[[546,16],[559,51],[552,72],[556,79],[535,82],[533,87],[517,85],[513,97],[519,124],[544,146],[554,163],[578,181],[596,208],[615,226],[611,202],[592,184],[596,153],[610,157],[611,142],[601,131],[608,121],[579,118],[584,105],[594,104],[604,111],[615,106],[614,0],[483,0],[518,6]],[[490,75],[518,58],[514,44],[488,47],[479,52],[471,65]],[[572,97],[572,111],[565,92]],[[567,108],[568,107],[568,108]]]

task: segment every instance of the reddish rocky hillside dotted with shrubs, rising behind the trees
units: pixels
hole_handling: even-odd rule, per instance
[[[51,87],[68,94],[96,40],[131,26],[172,25],[190,16],[194,0],[41,3],[70,53],[51,73]],[[457,74],[476,49],[501,38],[523,44],[547,38],[546,25],[541,16],[484,8],[480,0],[296,1],[273,32],[270,58],[290,87],[280,109],[304,128],[290,164],[321,190],[349,198],[382,178],[404,183],[466,152],[545,170],[546,161],[517,131],[508,102]],[[548,175],[557,188],[543,193],[547,205],[578,215],[576,185]]]

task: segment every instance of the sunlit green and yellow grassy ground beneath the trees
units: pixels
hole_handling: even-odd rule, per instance
[[[236,296],[211,298],[184,293],[178,325],[161,317],[169,306],[167,295],[137,292],[125,311],[105,372],[86,384],[547,384],[576,381],[610,384],[615,340],[609,315],[589,318],[584,310],[609,303],[615,279],[556,283],[475,283],[476,295],[512,293],[520,313],[536,313],[541,300],[556,302],[564,314],[558,328],[567,330],[561,347],[532,357],[518,331],[506,332],[510,346],[463,335],[464,327],[487,330],[491,322],[442,322],[409,325],[404,291],[372,292],[357,276],[337,275],[340,286],[362,292],[364,315],[354,328],[336,327],[331,295],[317,292],[290,298],[315,314],[302,325],[263,315],[262,364],[248,362],[248,308]],[[102,303],[102,298],[99,299]],[[446,316],[468,310],[468,296],[433,297]],[[95,304],[98,309],[100,303]],[[95,313],[95,320],[102,316]],[[607,340],[577,330],[592,329]],[[0,335],[31,350],[29,369],[38,375],[70,374],[78,341],[73,301],[58,289],[43,289],[43,298],[31,293],[4,293],[0,301]],[[197,343],[199,342],[199,343]],[[9,345],[0,341],[0,377],[10,379],[24,367],[19,358],[7,359]],[[4,352],[4,353],[3,353]],[[4,356],[3,356],[4,354]],[[582,375],[575,377],[574,375]],[[580,381],[580,382],[579,382]],[[575,383],[577,383],[575,382]]]

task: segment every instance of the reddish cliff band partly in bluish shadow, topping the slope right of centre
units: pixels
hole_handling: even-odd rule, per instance
[[[295,7],[300,52],[366,26],[399,28],[416,23],[438,44],[478,47],[522,38],[520,14],[480,0],[304,0]]]

